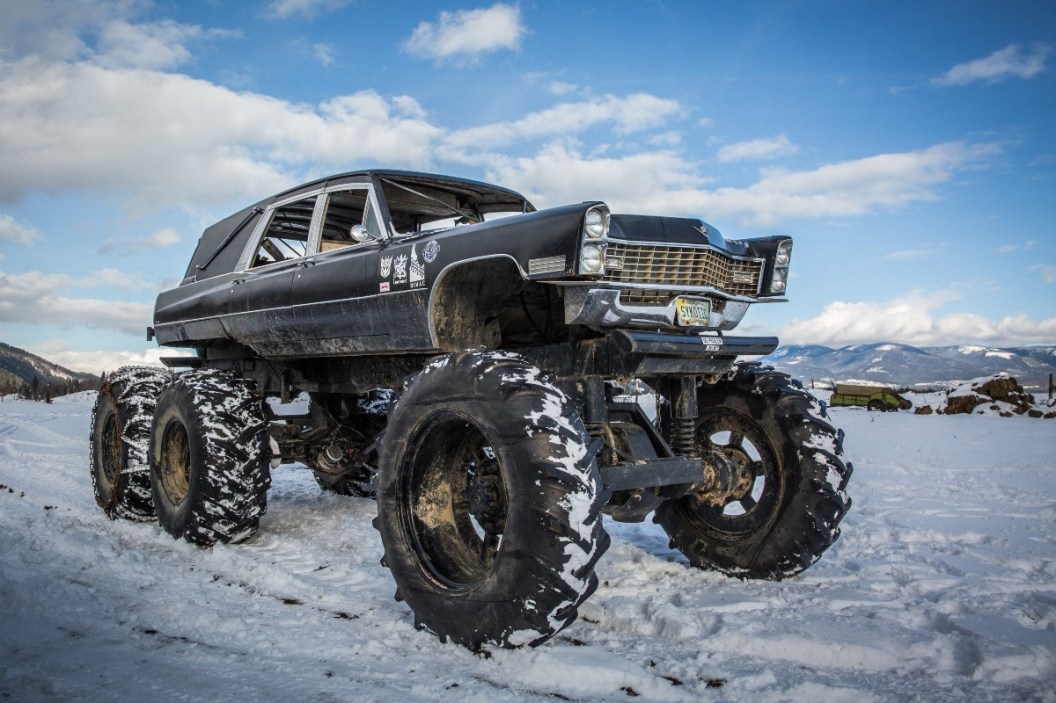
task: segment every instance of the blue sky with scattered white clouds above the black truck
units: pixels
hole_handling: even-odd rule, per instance
[[[1056,3],[0,0],[0,340],[98,372],[202,229],[373,166],[795,238],[785,343],[1056,343]]]

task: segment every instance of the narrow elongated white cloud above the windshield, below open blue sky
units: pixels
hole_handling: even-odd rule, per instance
[[[610,122],[618,134],[658,127],[680,110],[677,100],[647,93],[603,95],[579,102],[562,102],[509,122],[494,122],[453,132],[444,142],[452,149],[494,149],[524,139],[583,132]]]

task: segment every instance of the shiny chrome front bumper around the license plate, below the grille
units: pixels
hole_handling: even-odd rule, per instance
[[[751,303],[725,301],[721,312],[712,310],[708,329],[733,329]],[[675,319],[675,301],[667,305],[624,305],[617,288],[565,288],[565,324],[593,327],[638,327],[685,330]]]

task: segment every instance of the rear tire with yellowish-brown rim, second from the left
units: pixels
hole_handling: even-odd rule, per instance
[[[200,369],[162,392],[150,441],[157,520],[203,547],[242,542],[267,510],[270,450],[262,400],[233,374]]]

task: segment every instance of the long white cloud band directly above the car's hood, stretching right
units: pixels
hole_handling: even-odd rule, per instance
[[[880,154],[809,171],[765,171],[744,188],[708,189],[698,165],[672,151],[590,157],[568,142],[535,155],[492,155],[490,174],[541,203],[604,197],[617,211],[740,217],[760,227],[794,218],[861,215],[934,201],[935,188],[998,152],[994,145],[949,142]]]

